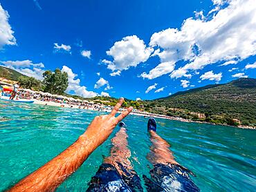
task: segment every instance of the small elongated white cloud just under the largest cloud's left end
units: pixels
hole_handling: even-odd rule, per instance
[[[167,73],[171,73],[174,70],[175,64],[174,62],[163,62],[149,71],[149,74],[143,72],[140,77],[143,79],[155,79],[156,77],[160,77]]]

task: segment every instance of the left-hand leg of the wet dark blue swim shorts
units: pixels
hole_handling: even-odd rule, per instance
[[[120,175],[112,164],[102,164],[91,178],[87,191],[143,191],[136,172],[126,169],[120,163],[118,166],[124,174]]]

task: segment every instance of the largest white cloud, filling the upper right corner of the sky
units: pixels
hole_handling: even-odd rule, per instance
[[[221,6],[223,2],[228,2],[228,6]],[[152,35],[149,45],[162,49],[154,52],[162,63],[184,61],[185,65],[172,71],[170,77],[183,77],[190,70],[200,70],[219,61],[235,64],[235,60],[256,54],[255,1],[214,1],[214,4],[218,6],[211,11],[214,15],[209,12],[205,18],[188,18],[181,30],[168,28]]]

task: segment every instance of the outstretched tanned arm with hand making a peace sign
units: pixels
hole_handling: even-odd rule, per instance
[[[54,191],[82,165],[95,148],[107,140],[118,122],[132,111],[132,107],[129,107],[127,111],[115,117],[123,101],[124,99],[120,98],[109,115],[95,117],[77,141],[18,182],[10,191]]]

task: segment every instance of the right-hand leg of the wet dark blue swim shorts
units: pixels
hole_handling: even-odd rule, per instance
[[[147,191],[200,191],[189,176],[194,174],[179,164],[155,164],[149,173],[151,179],[143,175]]]

